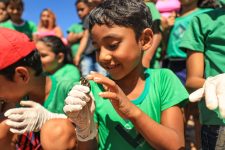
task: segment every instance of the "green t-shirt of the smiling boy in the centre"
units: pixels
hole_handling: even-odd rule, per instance
[[[145,77],[144,91],[132,103],[160,123],[162,111],[183,104],[188,93],[180,80],[168,69],[147,69]],[[134,125],[117,114],[109,100],[98,96],[102,91],[101,85],[91,82],[91,91],[96,104],[94,117],[98,124],[99,149],[152,149]]]

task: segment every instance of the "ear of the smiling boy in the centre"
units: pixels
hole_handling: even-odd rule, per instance
[[[148,50],[152,46],[153,32],[150,28],[146,28],[141,33],[140,43],[142,50]]]

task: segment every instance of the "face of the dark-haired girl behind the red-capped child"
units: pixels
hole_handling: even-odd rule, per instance
[[[54,73],[58,66],[57,55],[44,42],[38,41],[36,47],[41,56],[42,68],[45,72]]]

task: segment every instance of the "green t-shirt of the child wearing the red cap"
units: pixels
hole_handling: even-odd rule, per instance
[[[44,102],[44,107],[54,113],[64,113],[64,100],[69,91],[75,85],[71,80],[56,81],[54,77],[50,77],[52,87],[48,98]]]

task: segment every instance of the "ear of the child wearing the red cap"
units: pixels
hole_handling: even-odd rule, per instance
[[[14,81],[27,83],[30,80],[30,72],[26,67],[16,67]]]

